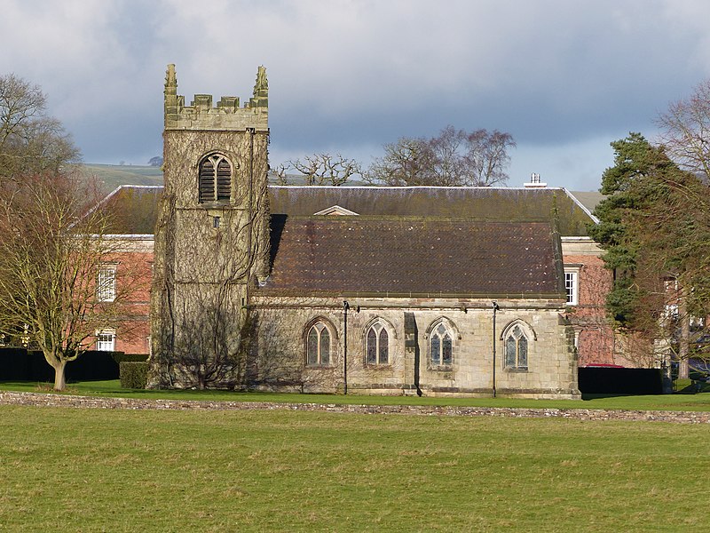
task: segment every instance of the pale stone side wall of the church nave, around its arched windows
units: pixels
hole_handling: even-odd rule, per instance
[[[251,298],[256,335],[251,346],[252,386],[334,393],[345,386],[359,394],[490,396],[495,365],[497,394],[520,397],[578,398],[577,362],[571,337],[560,320],[559,302],[499,300],[493,363],[493,311],[490,300],[460,298],[350,298],[344,329],[342,298]],[[416,335],[407,344],[406,314]],[[366,335],[379,321],[388,332],[387,364],[368,364]],[[330,335],[327,365],[308,365],[306,336],[322,322]],[[451,364],[430,360],[432,328],[444,322],[452,334]],[[506,368],[505,338],[519,325],[528,338],[528,367]],[[345,337],[347,335],[347,353]]]

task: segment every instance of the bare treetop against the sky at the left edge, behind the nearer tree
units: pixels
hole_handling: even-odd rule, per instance
[[[46,103],[38,86],[0,76],[0,178],[57,172],[79,160],[71,136],[46,114]]]

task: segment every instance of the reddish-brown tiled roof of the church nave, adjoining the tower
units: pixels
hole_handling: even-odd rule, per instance
[[[264,295],[561,298],[547,222],[272,217]]]

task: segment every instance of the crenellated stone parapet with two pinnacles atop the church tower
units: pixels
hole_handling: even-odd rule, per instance
[[[217,106],[212,105],[211,94],[195,94],[189,106],[185,97],[177,94],[175,65],[168,65],[165,76],[165,129],[256,131],[269,130],[269,82],[266,68],[259,67],[252,98],[240,107],[237,96],[223,96]]]

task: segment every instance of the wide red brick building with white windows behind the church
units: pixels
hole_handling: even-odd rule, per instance
[[[160,195],[162,187],[123,186],[104,201],[104,208],[115,215],[114,238],[122,242],[120,257],[106,261],[115,269],[117,284],[124,282],[128,273],[138,273],[144,281],[151,276]],[[567,292],[565,317],[575,332],[579,365],[623,364],[623,359],[615,355],[615,336],[604,313],[611,274],[604,268],[602,251],[587,236],[586,230],[589,224],[596,222],[591,209],[599,195],[587,195],[582,203],[577,195],[554,187],[269,187],[272,232],[276,235],[280,235],[283,227],[280,219],[288,217],[556,219]],[[525,257],[525,250],[520,253]],[[143,286],[149,287],[149,283]],[[148,290],[144,288],[131,294],[130,302],[130,316],[114,329],[101,332],[104,335],[101,346],[147,354],[150,352]]]

